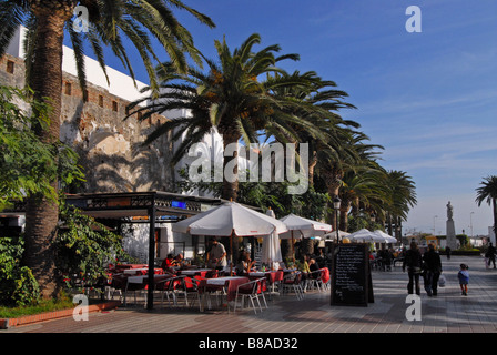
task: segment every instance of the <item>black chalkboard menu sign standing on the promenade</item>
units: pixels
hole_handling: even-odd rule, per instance
[[[333,244],[332,305],[367,306],[373,300],[368,244]]]

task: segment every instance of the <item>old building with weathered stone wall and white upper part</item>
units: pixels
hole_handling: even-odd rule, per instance
[[[0,58],[0,84],[11,87],[24,85],[24,52],[22,41],[26,29],[20,28],[7,50]],[[143,146],[144,139],[155,126],[166,120],[187,115],[187,111],[178,110],[163,115],[153,114],[146,121],[140,121],[134,114],[125,121],[126,105],[143,98],[141,89],[146,84],[134,82],[130,75],[106,67],[110,84],[98,61],[85,57],[88,81],[88,100],[83,100],[78,82],[74,53],[63,47],[63,83],[61,132],[62,142],[72,146],[80,156],[80,164],[85,171],[85,183],[74,193],[130,193],[163,191],[170,192],[180,179],[178,171],[190,164],[194,158],[185,155],[173,169],[171,156],[179,149],[180,142],[173,143],[170,136],[162,136]],[[204,138],[204,145],[212,153],[212,159],[223,154],[222,136],[213,130]],[[246,169],[247,162],[239,160],[240,168]],[[190,191],[186,195],[202,195],[199,191]],[[209,197],[209,195],[207,195]],[[204,207],[209,207],[204,205]],[[139,219],[135,219],[136,222]],[[171,221],[166,219],[156,224],[156,256],[164,258],[166,254],[183,253],[192,257],[193,251],[202,253],[205,239],[173,233]],[[24,224],[23,214],[7,215],[0,213],[0,230],[18,231]],[[149,226],[146,223],[130,224],[124,240],[125,250],[146,262],[149,248]]]

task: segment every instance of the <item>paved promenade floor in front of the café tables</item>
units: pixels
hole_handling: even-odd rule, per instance
[[[307,292],[304,301],[292,294],[275,296],[270,308],[254,314],[244,310],[200,313],[197,307],[161,307],[148,312],[140,306],[90,314],[89,321],[70,318],[19,326],[12,333],[497,333],[497,271],[486,270],[481,257],[442,257],[446,287],[436,297],[422,292],[422,320],[406,320],[407,273],[374,271],[375,302],[367,307],[331,306],[329,292]],[[467,296],[460,294],[458,265],[469,265]],[[132,298],[132,297],[130,297]]]

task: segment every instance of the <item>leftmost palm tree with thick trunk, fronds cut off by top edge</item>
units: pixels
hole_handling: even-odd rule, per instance
[[[89,29],[78,32],[73,28],[73,11],[77,4],[89,11]],[[50,128],[34,128],[45,142],[55,142],[60,136],[60,112],[62,93],[62,44],[64,31],[70,36],[78,77],[85,87],[83,43],[89,42],[104,73],[103,47],[108,45],[121,59],[134,78],[123,42],[128,38],[138,50],[151,81],[156,90],[153,60],[159,61],[152,49],[150,37],[156,39],[171,57],[179,70],[186,69],[184,53],[194,60],[200,54],[193,45],[189,31],[179,23],[170,8],[186,10],[202,23],[214,24],[204,14],[186,7],[179,0],[3,0],[0,3],[0,55],[2,55],[14,31],[20,24],[28,28],[26,38],[27,83],[39,101],[52,106]],[[106,74],[105,74],[106,75]],[[83,90],[84,92],[84,90]],[[54,189],[57,181],[53,181]],[[53,252],[50,240],[54,236],[59,220],[58,206],[45,199],[32,196],[28,200],[24,262],[31,267],[43,296],[57,292]]]

